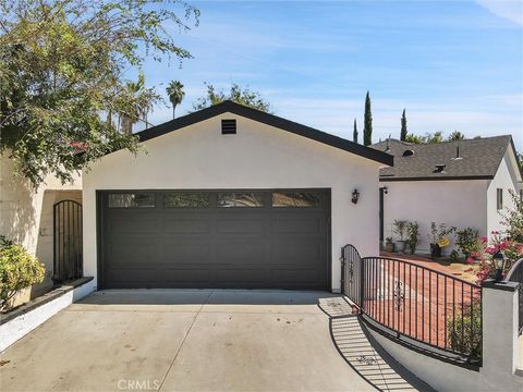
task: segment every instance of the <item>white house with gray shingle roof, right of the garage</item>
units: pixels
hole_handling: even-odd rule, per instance
[[[424,145],[389,139],[372,147],[394,156],[394,167],[379,175],[381,242],[393,236],[396,219],[419,223],[422,253],[429,252],[431,221],[481,235],[503,230],[500,212],[522,181],[510,135]]]

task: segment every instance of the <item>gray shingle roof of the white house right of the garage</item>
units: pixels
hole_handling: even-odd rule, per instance
[[[370,147],[385,151],[387,146],[394,156],[394,167],[381,169],[380,181],[491,180],[509,146],[518,159],[510,135],[436,144],[390,139]],[[460,159],[455,159],[458,148]],[[403,156],[408,150],[413,154]],[[438,171],[438,164],[445,164],[445,169]]]

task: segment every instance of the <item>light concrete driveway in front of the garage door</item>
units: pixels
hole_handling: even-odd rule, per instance
[[[7,391],[370,391],[321,292],[101,291],[4,353]]]

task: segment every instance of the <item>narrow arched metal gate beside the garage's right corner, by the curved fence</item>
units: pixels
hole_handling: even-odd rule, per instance
[[[362,307],[363,273],[362,257],[352,245],[341,248],[341,291],[355,305]]]

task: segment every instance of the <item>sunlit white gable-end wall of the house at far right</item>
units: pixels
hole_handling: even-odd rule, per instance
[[[499,164],[498,171],[496,172],[495,177],[488,184],[487,191],[487,229],[488,234],[492,231],[502,232],[507,230],[500,221],[502,216],[497,209],[497,194],[496,189],[501,188],[503,189],[503,210],[507,211],[507,208],[512,208],[513,203],[509,194],[509,189],[516,192],[519,189],[518,180],[519,173],[516,168],[514,167],[515,159],[512,151],[512,148],[508,148],[507,152],[504,154],[501,163]]]

